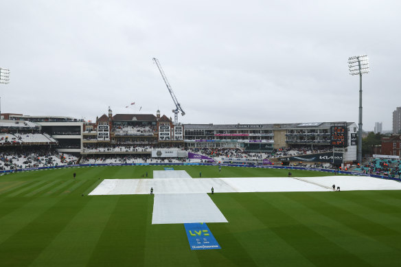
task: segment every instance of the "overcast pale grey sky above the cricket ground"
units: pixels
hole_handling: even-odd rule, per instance
[[[401,106],[399,0],[0,3],[2,113],[174,117],[153,57],[183,123],[358,123],[347,58],[363,54],[364,130]]]

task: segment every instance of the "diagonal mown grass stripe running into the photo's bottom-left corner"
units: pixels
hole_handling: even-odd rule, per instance
[[[89,198],[60,198],[56,205],[0,244],[1,264],[29,266],[88,201]]]

